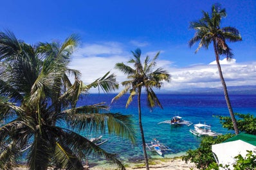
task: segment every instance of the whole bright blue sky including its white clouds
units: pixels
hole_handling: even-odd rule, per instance
[[[80,47],[73,55],[71,67],[90,82],[104,72],[122,74],[114,69],[116,62],[126,62],[137,47],[144,55],[160,51],[159,67],[172,75],[165,89],[219,87],[212,47],[188,47],[194,36],[191,21],[201,18],[221,3],[228,16],[221,26],[233,26],[242,42],[229,43],[234,58],[223,65],[227,85],[256,83],[256,1],[255,0],[158,0],[158,1],[17,1],[1,2],[0,30],[11,30],[16,37],[30,44],[63,41],[71,33],[80,36]],[[93,76],[91,76],[93,75]]]

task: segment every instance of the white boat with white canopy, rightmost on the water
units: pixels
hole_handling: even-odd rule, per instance
[[[211,126],[210,125],[206,125],[206,124],[194,124],[194,130],[189,130],[191,133],[193,133],[194,135],[197,135],[198,137],[204,136],[204,135],[208,135],[208,136],[217,136],[217,135],[222,135],[221,133],[217,133],[211,130]]]

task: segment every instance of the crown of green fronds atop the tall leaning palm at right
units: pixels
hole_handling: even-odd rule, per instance
[[[221,19],[226,17],[226,10],[219,4],[212,6],[211,13],[203,11],[203,17],[199,21],[190,22],[190,28],[196,30],[194,37],[188,42],[191,47],[196,42],[199,42],[197,51],[201,47],[208,49],[208,46],[214,42],[217,47],[217,51],[220,55],[226,55],[227,58],[232,58],[233,54],[230,47],[226,44],[226,40],[229,42],[236,42],[242,40],[239,31],[233,27],[221,28]]]

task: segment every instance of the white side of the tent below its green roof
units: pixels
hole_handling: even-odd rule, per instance
[[[235,163],[234,157],[239,154],[242,157],[246,157],[246,150],[256,151],[256,146],[242,140],[212,145],[212,152],[217,156],[218,164],[223,164],[223,166],[230,165],[230,169],[233,169],[232,164]]]

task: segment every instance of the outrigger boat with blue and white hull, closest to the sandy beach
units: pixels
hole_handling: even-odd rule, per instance
[[[158,155],[163,156],[163,152],[165,151],[173,151],[168,146],[165,146],[165,144],[160,143],[158,140],[154,139],[151,141],[151,143],[146,144],[147,151],[156,151]]]

